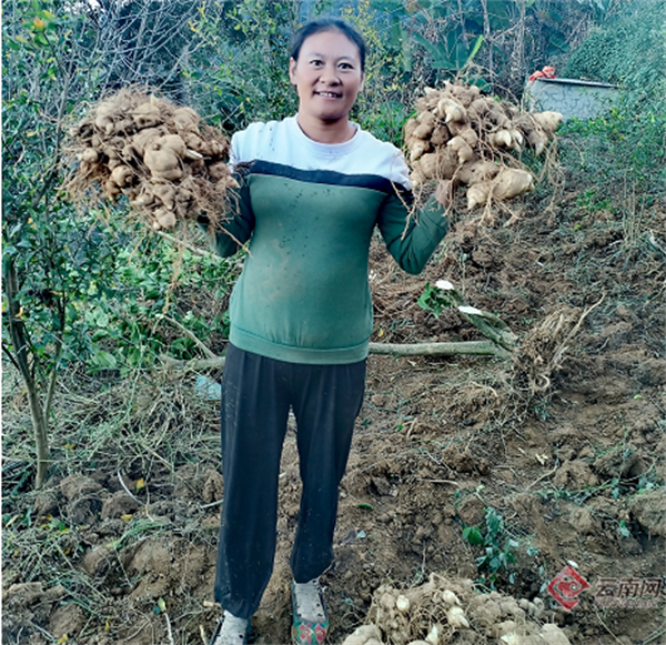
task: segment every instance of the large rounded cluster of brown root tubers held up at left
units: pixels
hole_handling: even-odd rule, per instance
[[[153,229],[204,213],[219,221],[230,188],[229,140],[191,108],[135,89],[123,89],[90,109],[70,129],[78,168],[68,189],[74,201],[101,187],[105,198],[125,195]]]

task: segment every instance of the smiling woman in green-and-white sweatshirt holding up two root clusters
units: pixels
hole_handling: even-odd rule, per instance
[[[290,409],[303,481],[291,556],[292,638],[297,645],[324,641],[329,618],[319,576],[333,561],[337,486],[363,401],[371,235],[376,224],[398,264],[418,273],[446,233],[444,190],[410,218],[402,154],[350,121],[364,63],[363,39],[347,23],[306,24],[290,61],[296,117],[253,123],[232,139],[232,163],[245,170],[216,250],[231,255],[250,244],[231,298],[222,383],[215,599],[224,617],[212,645],[246,639],[271,576]]]

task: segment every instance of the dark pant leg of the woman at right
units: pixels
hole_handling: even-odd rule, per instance
[[[303,495],[291,556],[294,580],[307,582],[333,562],[339,485],[365,387],[365,361],[299,365],[292,384]]]

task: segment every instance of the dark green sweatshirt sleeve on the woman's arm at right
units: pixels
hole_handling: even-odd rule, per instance
[[[387,195],[377,225],[389,252],[407,273],[421,273],[448,230],[444,208],[432,195],[420,211],[412,212],[412,191]]]

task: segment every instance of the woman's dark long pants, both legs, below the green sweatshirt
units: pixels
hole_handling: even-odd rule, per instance
[[[215,599],[235,616],[259,607],[275,555],[278,477],[290,407],[303,494],[291,555],[296,582],[333,562],[337,487],[361,410],[365,361],[349,365],[285,363],[230,345],[222,379],[224,502]]]

